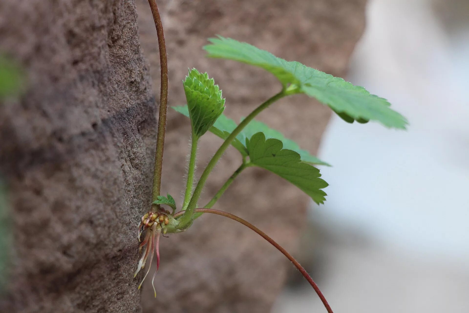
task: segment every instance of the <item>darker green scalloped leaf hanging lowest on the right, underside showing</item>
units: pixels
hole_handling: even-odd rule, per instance
[[[300,154],[282,149],[282,142],[278,139],[266,140],[261,132],[247,141],[247,147],[252,164],[285,178],[314,202],[324,203],[326,193],[321,189],[327,187],[328,183],[319,178],[321,174],[317,168],[301,161]]]

